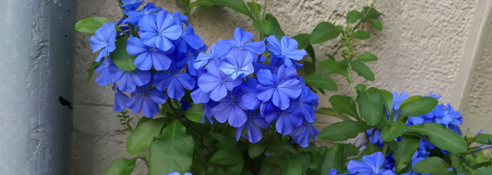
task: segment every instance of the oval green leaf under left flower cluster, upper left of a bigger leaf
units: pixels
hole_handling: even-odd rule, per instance
[[[148,148],[154,137],[159,136],[163,126],[164,118],[142,122],[126,140],[126,152],[130,155],[137,155]]]

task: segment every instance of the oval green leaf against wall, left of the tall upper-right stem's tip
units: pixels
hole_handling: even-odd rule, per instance
[[[340,32],[340,29],[335,25],[328,22],[321,22],[312,30],[309,42],[311,44],[319,44],[338,37]]]

